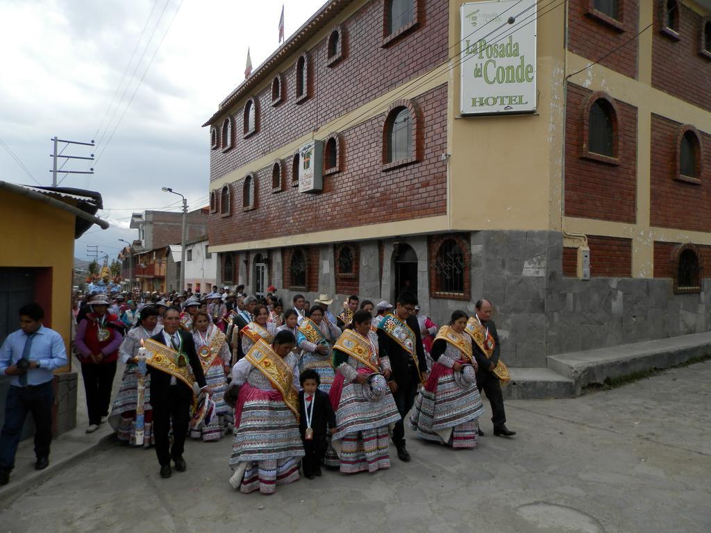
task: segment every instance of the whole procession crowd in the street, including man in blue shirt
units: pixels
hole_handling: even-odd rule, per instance
[[[313,305],[297,294],[284,306],[273,291],[257,298],[243,286],[212,289],[91,294],[73,306],[87,433],[107,421],[127,446],[154,446],[164,478],[173,467],[186,470],[188,436],[215,441],[232,434],[230,484],[266,494],[301,473],[314,479],[322,467],[389,468],[391,440],[397,457],[410,461],[405,425],[427,441],[476,448],[482,389],[493,434],[515,434],[506,427],[501,383],[508,371],[487,300],[476,302],[472,316],[455,311],[440,328],[407,291],[395,306],[350,296],[335,316],[326,294]],[[9,480],[30,411],[40,420],[36,467],[48,463],[51,434],[40,411],[51,388],[35,382],[46,384],[66,354],[54,336],[48,342],[55,332],[41,325],[38,308],[21,308],[21,330],[0,348],[0,372],[14,376],[16,389],[6,411],[19,411],[6,414],[1,432],[0,483]],[[36,333],[47,340],[32,343]],[[119,359],[123,375],[112,402]],[[23,394],[41,399],[16,409],[15,396]]]

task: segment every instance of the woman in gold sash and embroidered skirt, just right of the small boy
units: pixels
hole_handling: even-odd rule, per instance
[[[378,357],[378,343],[368,335],[370,319],[367,311],[356,311],[351,322],[353,329],[343,331],[333,347],[337,374],[329,396],[336,411],[332,446],[338,460],[327,454],[325,464],[338,466],[343,473],[390,468],[390,429],[400,420],[395,400],[385,384],[390,379],[390,360]],[[370,390],[373,375],[385,378],[380,396]]]

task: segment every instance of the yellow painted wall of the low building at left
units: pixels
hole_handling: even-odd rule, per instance
[[[52,268],[51,328],[62,335],[69,361],[58,372],[71,367],[74,228],[75,217],[70,212],[0,190],[0,267]]]

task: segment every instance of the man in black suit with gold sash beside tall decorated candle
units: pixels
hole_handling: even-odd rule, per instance
[[[205,384],[203,367],[195,351],[193,335],[181,330],[180,310],[169,307],[163,319],[164,329],[151,339],[164,344],[188,357],[198,387],[209,392]],[[179,356],[178,356],[179,357]],[[156,455],[161,464],[161,477],[171,477],[171,458],[178,472],[187,468],[183,459],[185,439],[190,424],[190,410],[193,404],[193,389],[181,379],[149,366],[151,374],[151,407],[153,407],[153,433],[156,439]],[[173,447],[169,449],[169,430],[173,421]]]

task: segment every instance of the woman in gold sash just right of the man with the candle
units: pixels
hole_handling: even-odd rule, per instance
[[[212,400],[215,402],[215,412],[210,424],[191,428],[192,438],[202,438],[203,441],[219,441],[223,438],[232,424],[232,409],[225,404],[225,390],[227,390],[226,375],[230,368],[230,348],[225,342],[225,334],[214,324],[210,324],[210,316],[203,311],[195,319],[193,340],[198,358],[203,366],[203,374],[208,387],[212,389]]]

